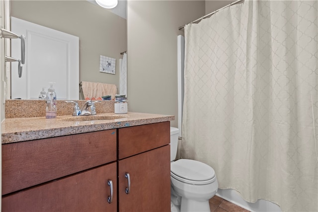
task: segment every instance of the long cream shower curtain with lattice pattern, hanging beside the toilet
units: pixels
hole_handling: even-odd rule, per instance
[[[317,1],[252,1],[185,27],[181,157],[219,188],[318,211]]]

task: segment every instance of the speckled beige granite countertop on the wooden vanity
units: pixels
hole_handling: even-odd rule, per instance
[[[74,121],[72,116],[58,116],[56,119],[46,119],[45,117],[6,118],[1,123],[2,144],[174,120],[174,116],[147,113],[107,113],[107,115],[115,116],[116,119]],[[117,115],[121,117],[117,117]]]

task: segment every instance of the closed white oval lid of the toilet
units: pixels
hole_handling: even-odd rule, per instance
[[[211,166],[196,160],[176,160],[171,163],[170,170],[176,176],[192,181],[206,181],[215,177]]]

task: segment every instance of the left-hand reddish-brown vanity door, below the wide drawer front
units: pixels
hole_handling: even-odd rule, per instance
[[[116,162],[2,198],[2,212],[117,211]],[[113,200],[108,180],[113,183]]]

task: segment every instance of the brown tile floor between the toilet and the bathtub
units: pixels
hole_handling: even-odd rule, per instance
[[[209,200],[209,203],[211,212],[249,212],[216,195]]]

